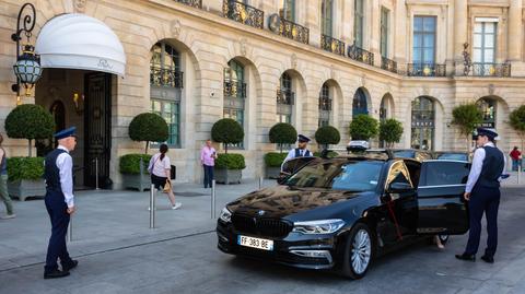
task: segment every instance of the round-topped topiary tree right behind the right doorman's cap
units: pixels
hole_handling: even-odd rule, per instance
[[[483,114],[475,103],[467,103],[452,109],[452,125],[457,126],[459,133],[465,138],[465,148],[470,151],[472,131],[481,122]]]

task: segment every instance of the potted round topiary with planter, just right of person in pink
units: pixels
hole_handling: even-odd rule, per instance
[[[217,183],[241,183],[243,169],[246,167],[242,154],[228,154],[228,145],[241,143],[244,140],[244,130],[237,121],[223,118],[213,124],[211,139],[224,144],[224,154],[219,154],[215,160]]]

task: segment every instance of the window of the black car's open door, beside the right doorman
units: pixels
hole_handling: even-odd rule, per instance
[[[425,186],[466,184],[470,170],[470,164],[460,162],[434,161],[423,166]]]

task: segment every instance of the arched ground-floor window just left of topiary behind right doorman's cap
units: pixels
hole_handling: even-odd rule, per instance
[[[422,96],[412,102],[411,148],[433,149],[434,118],[434,102],[431,98]]]

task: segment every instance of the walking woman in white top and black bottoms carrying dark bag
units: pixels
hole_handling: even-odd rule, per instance
[[[170,199],[170,202],[172,202],[172,209],[178,209],[183,204],[179,202],[175,202],[172,180],[170,179],[172,164],[170,162],[170,157],[166,155],[167,145],[161,144],[159,151],[159,153],[151,156],[150,165],[148,166],[148,170],[151,175],[151,184],[155,185],[155,189],[163,190],[167,193],[167,198]],[[165,187],[165,185],[168,185],[168,187]]]

